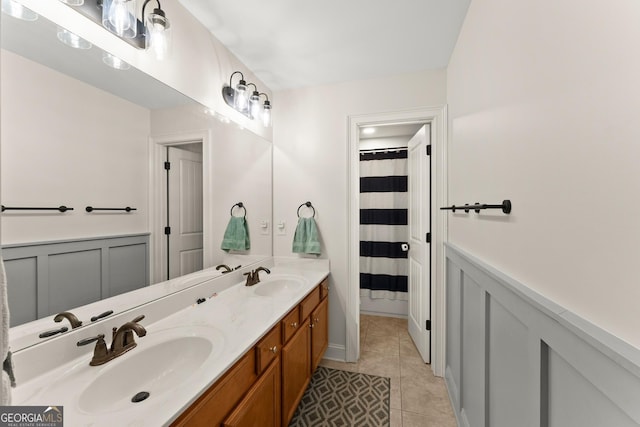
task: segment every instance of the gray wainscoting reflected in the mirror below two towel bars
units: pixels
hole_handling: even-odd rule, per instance
[[[149,235],[2,247],[11,326],[149,285]]]

